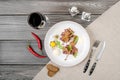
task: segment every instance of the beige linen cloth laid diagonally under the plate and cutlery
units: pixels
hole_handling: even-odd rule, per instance
[[[91,77],[88,76],[89,69],[83,73],[85,59],[74,67],[60,67],[60,71],[52,78],[47,76],[44,67],[33,80],[120,80],[120,1],[90,24],[87,31],[91,44],[95,39],[106,41],[105,51]]]

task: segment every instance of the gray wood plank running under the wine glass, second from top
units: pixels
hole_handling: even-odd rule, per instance
[[[47,15],[50,19],[50,24],[44,29],[36,30],[30,27],[27,23],[27,16],[0,16],[0,40],[33,40],[31,32],[39,34],[41,39],[44,39],[48,29],[55,23],[63,20],[72,20],[86,27],[94,21],[99,15],[92,15],[90,22],[84,22],[80,19],[80,15],[76,18],[70,15]]]

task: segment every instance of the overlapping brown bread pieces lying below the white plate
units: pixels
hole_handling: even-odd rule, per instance
[[[49,77],[53,77],[59,71],[59,68],[57,66],[52,65],[52,64],[48,64],[47,69],[48,69],[48,76]]]

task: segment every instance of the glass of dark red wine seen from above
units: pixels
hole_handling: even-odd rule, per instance
[[[28,24],[35,29],[45,27],[46,21],[46,16],[39,12],[33,12],[28,16]]]

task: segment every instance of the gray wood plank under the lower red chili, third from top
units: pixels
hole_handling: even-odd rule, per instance
[[[41,54],[36,41],[30,42],[35,51]],[[27,45],[27,41],[0,41],[0,64],[46,64],[49,61],[48,58],[40,59],[33,56]],[[42,53],[46,55],[44,48]]]

